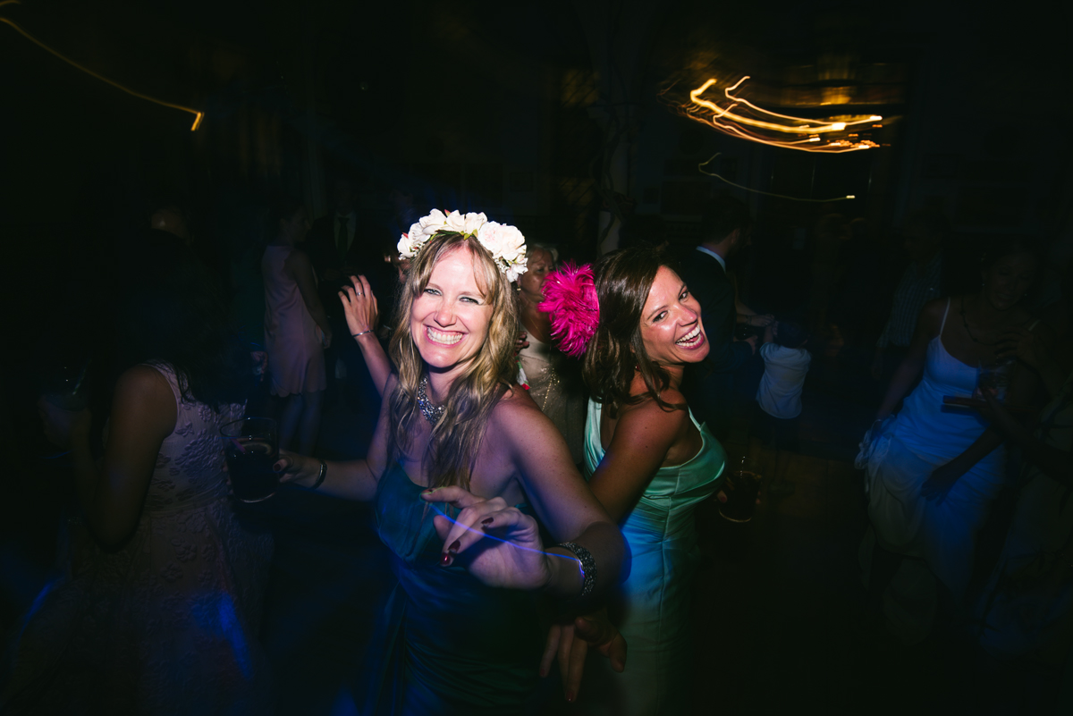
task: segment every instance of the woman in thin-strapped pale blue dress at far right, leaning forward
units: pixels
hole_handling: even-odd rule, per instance
[[[987,420],[949,408],[943,398],[970,397],[978,366],[996,360],[1004,331],[1034,327],[1020,299],[1038,268],[1029,247],[997,245],[985,256],[979,294],[940,298],[921,311],[909,354],[876,416],[885,429],[872,439],[865,471],[872,528],[861,550],[869,591],[863,627],[885,626],[916,643],[942,601],[951,611],[962,605],[976,533],[1005,477],[1005,449]],[[1030,371],[1014,369],[1006,400],[1027,404],[1033,384]]]

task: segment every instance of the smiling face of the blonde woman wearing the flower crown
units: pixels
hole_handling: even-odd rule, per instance
[[[430,372],[461,373],[488,338],[491,303],[465,248],[444,254],[410,308],[410,337]]]

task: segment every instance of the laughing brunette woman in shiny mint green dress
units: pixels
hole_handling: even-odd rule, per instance
[[[592,392],[585,466],[593,494],[622,527],[628,579],[609,615],[628,645],[624,672],[587,665],[587,713],[689,713],[689,593],[700,561],[693,508],[721,486],[722,446],[679,392],[686,363],[708,354],[701,307],[651,249],[593,267],[600,322],[585,352]],[[569,698],[569,697],[568,697]]]

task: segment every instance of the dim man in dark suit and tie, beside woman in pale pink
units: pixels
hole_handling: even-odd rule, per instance
[[[370,387],[361,348],[353,339],[348,338],[350,330],[339,299],[339,290],[343,285],[350,285],[351,275],[371,274],[378,268],[378,258],[368,245],[369,237],[363,226],[358,225],[356,199],[355,182],[348,177],[336,179],[332,185],[334,210],[313,222],[306,240],[306,250],[317,272],[321,304],[327,313],[332,333],[338,337],[332,342],[332,347],[324,352],[327,368],[326,398],[335,400],[336,396],[342,394],[353,403],[353,407],[372,409],[377,407],[372,404],[376,403],[376,391]],[[347,369],[342,386],[336,381],[336,363],[339,359],[342,359]]]

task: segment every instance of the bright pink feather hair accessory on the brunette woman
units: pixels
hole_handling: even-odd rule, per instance
[[[552,338],[568,356],[580,357],[600,324],[592,266],[567,264],[544,283],[544,300],[536,307],[552,316]]]

